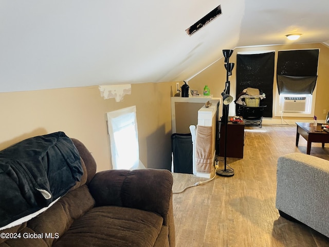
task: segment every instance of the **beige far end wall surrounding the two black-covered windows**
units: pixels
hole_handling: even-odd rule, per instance
[[[258,47],[243,47],[234,49],[233,55],[230,58],[230,62],[236,63],[237,52],[243,51],[275,51],[275,74],[276,74],[276,61],[278,57],[279,50],[287,49],[320,49],[319,53],[319,66],[318,66],[318,80],[317,80],[317,95],[315,103],[315,115],[318,119],[324,119],[326,113],[323,110],[329,111],[329,48],[323,44],[301,44],[301,45],[273,45],[273,46],[258,46]],[[236,85],[236,67],[233,68],[232,76],[229,78],[231,82],[230,94],[235,99],[235,85]],[[276,76],[273,81],[273,95],[275,96],[277,90],[277,79]],[[216,61],[214,64],[203,70],[203,72],[196,75],[194,78],[189,80],[190,89],[198,90],[203,92],[205,84],[208,84],[210,88],[210,93],[214,97],[221,97],[221,93],[225,89],[226,82],[226,69],[224,67],[224,58]],[[274,99],[275,97],[273,97]],[[274,105],[275,102],[273,102]],[[230,114],[235,114],[234,104],[230,104]],[[274,109],[273,109],[274,116]],[[273,117],[276,119],[279,117]],[[305,118],[307,119],[307,118]],[[308,118],[312,119],[312,118]]]

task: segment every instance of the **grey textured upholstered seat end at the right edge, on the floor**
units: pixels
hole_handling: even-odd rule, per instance
[[[279,157],[277,209],[329,237],[328,188],[329,161],[303,153]]]

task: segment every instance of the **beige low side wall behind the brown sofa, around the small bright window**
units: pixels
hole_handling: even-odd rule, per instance
[[[132,84],[123,101],[104,100],[98,87],[0,93],[0,150],[28,137],[64,131],[93,153],[98,170],[111,168],[106,112],[136,105],[140,160],[171,168],[171,99],[175,82]]]

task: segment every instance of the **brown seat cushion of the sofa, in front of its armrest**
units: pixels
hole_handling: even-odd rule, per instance
[[[53,246],[153,246],[162,217],[150,211],[102,206],[76,220]]]

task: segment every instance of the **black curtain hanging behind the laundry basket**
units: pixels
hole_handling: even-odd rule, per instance
[[[265,93],[266,98],[261,100],[261,105],[266,105],[264,117],[272,117],[274,59],[275,52],[236,55],[236,98],[247,87]]]

